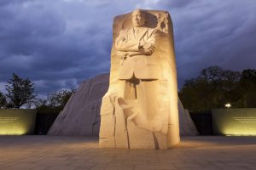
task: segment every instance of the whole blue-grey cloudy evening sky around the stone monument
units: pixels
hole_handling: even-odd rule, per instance
[[[38,94],[108,72],[113,17],[134,8],[171,14],[179,87],[211,65],[256,68],[255,0],[0,0],[0,91],[13,72]]]

